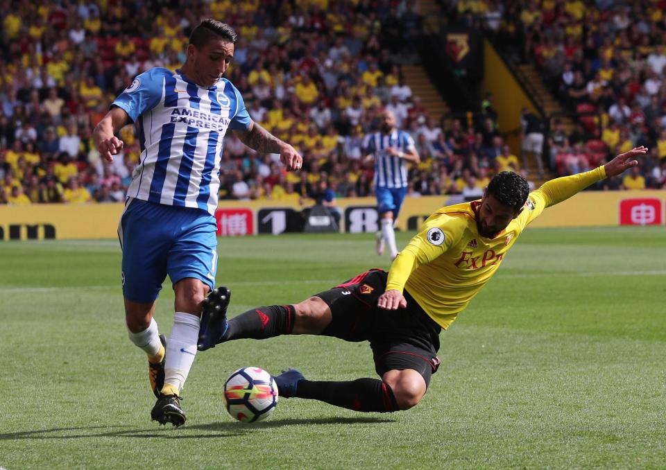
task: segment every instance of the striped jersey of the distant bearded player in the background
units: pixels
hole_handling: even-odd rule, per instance
[[[386,148],[407,152],[414,150],[414,139],[402,130],[394,130],[391,134],[375,132],[366,136],[366,155],[375,156],[375,187],[406,188],[407,162],[396,155],[388,155]]]

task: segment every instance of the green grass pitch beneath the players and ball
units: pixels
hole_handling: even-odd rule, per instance
[[[399,243],[410,234],[400,234]],[[232,315],[298,302],[386,267],[372,235],[221,239]],[[441,369],[416,408],[359,414],[283,399],[233,421],[237,367],[373,376],[368,345],[243,340],[198,355],[182,428],[150,421],[145,357],[126,338],[116,241],[0,243],[0,467],[664,468],[663,229],[530,229],[442,333]],[[157,308],[171,327],[173,293]]]

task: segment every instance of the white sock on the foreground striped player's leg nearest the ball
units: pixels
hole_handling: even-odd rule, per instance
[[[200,322],[199,317],[191,313],[176,312],[173,315],[171,336],[167,340],[167,357],[164,359],[164,385],[172,385],[179,392],[194,363]]]

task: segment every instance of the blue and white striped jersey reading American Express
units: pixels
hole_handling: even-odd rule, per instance
[[[128,197],[214,214],[224,134],[251,122],[236,87],[225,78],[200,87],[180,70],[156,67],[137,76],[112,106],[135,121],[141,145]]]

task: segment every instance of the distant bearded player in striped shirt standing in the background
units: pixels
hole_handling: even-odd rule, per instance
[[[388,244],[391,259],[398,256],[395,246],[394,220],[398,220],[404,195],[407,194],[407,162],[418,164],[414,139],[395,127],[393,112],[384,110],[380,132],[366,136],[366,159],[375,159],[375,195],[380,229],[377,232],[377,254],[384,254]]]

